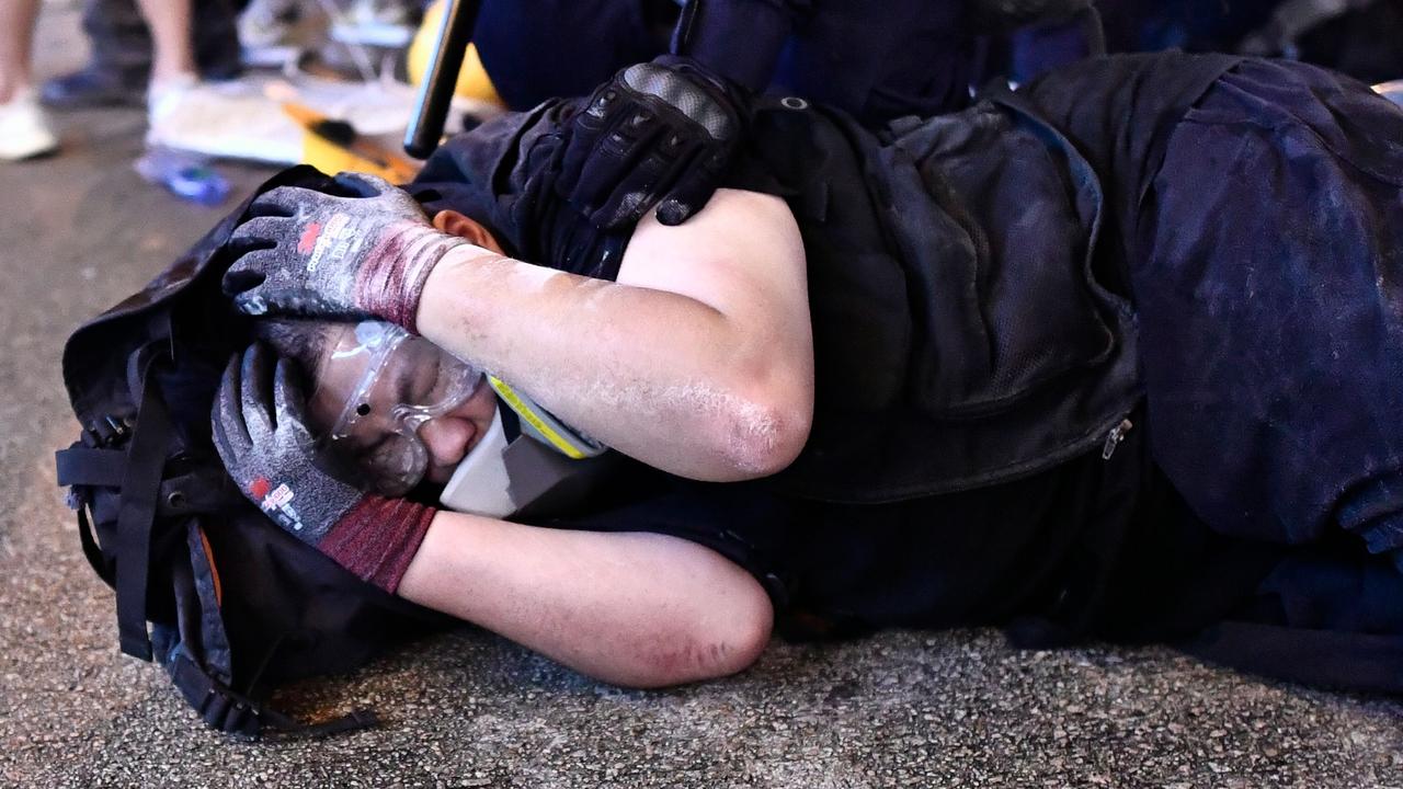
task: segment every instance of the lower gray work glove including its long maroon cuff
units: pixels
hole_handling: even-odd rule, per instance
[[[239,490],[283,531],[394,592],[436,511],[362,493],[323,472],[304,403],[289,362],[251,345],[220,380],[215,449]]]

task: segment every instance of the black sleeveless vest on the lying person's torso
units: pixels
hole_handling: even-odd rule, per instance
[[[794,211],[815,341],[814,428],[773,479],[779,490],[913,498],[1033,475],[1107,442],[1141,397],[1121,277],[1127,195],[1141,194],[1131,181],[1153,174],[1159,132],[1230,66],[1155,63],[1118,59],[881,135],[797,98],[756,105],[728,185]],[[1166,84],[1143,84],[1145,72]],[[1097,97],[1085,115],[1104,133],[1073,142],[1045,118],[1079,94]],[[419,188],[439,192],[431,208],[485,220],[523,260],[612,278],[626,239],[585,226],[550,188],[570,108],[549,102],[450,142]]]

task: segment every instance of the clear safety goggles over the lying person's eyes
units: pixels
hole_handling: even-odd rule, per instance
[[[376,491],[403,496],[428,473],[419,428],[466,403],[483,379],[480,369],[393,323],[358,323],[318,375],[313,400],[341,404],[321,441]]]

